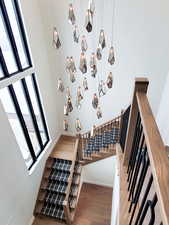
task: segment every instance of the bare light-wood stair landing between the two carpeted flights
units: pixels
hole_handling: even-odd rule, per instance
[[[55,145],[51,158],[74,160],[76,137],[62,135]]]

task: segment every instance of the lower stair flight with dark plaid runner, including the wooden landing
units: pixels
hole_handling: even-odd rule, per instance
[[[71,224],[81,189],[82,166],[77,158],[78,139],[61,136],[46,161],[35,216]],[[69,158],[69,159],[68,159]]]

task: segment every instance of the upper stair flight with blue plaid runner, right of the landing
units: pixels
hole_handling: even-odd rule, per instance
[[[120,119],[117,117],[101,126],[95,127],[93,132],[79,136],[79,158],[83,165],[96,162],[116,154],[116,144],[120,137]]]

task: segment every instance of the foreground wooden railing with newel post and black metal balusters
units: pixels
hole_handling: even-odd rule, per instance
[[[147,98],[148,83],[145,78],[135,81],[125,141],[126,225],[169,225],[169,160]]]

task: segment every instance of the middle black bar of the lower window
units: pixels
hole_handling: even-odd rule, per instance
[[[41,151],[42,151],[43,150],[42,138],[40,136],[40,130],[39,130],[39,127],[38,127],[38,124],[37,124],[36,116],[35,116],[34,109],[33,109],[33,106],[32,106],[32,102],[31,102],[31,99],[30,99],[28,87],[27,87],[27,84],[26,84],[26,81],[25,81],[24,78],[21,80],[21,82],[22,82],[24,94],[25,94],[25,97],[26,97],[26,101],[28,103],[28,108],[30,110],[30,114],[31,114],[31,117],[32,117],[32,120],[33,120],[33,125],[34,125],[35,131],[36,131],[36,136],[38,138],[38,141],[39,141],[39,144],[40,144],[40,147],[41,147]]]

